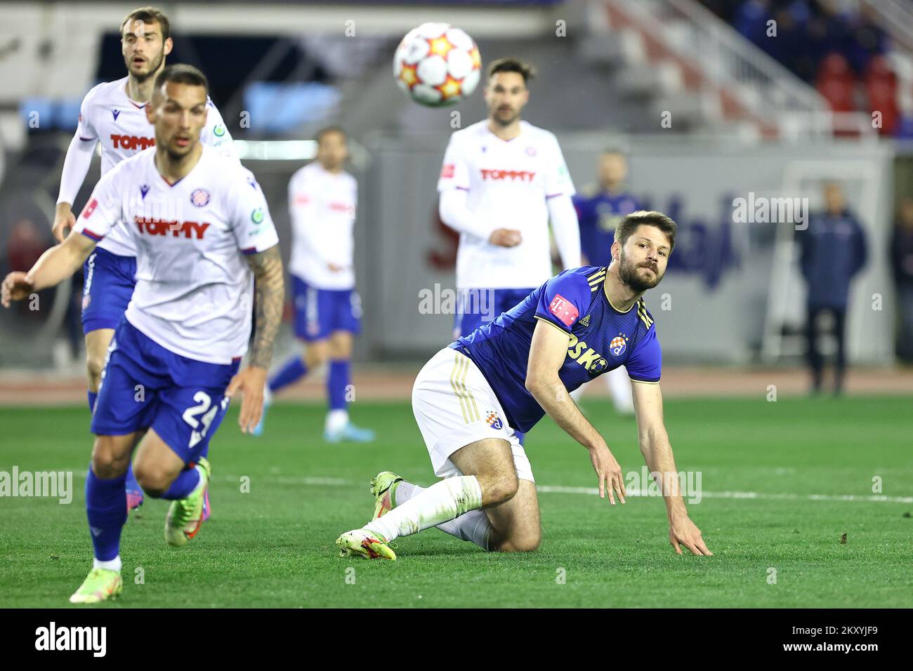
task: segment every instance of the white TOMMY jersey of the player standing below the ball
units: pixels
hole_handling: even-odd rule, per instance
[[[492,245],[460,234],[457,288],[538,287],[551,278],[547,199],[575,193],[554,133],[520,121],[520,133],[504,141],[479,121],[456,131],[444,155],[437,190],[463,189],[467,207],[495,228],[515,228],[518,246]]]

